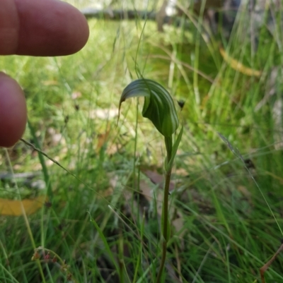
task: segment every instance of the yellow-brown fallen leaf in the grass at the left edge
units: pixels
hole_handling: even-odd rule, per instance
[[[7,200],[6,198],[0,198],[0,215],[23,215],[22,205],[25,213],[32,215],[37,212],[46,201],[47,197],[45,195],[40,195],[33,200]]]

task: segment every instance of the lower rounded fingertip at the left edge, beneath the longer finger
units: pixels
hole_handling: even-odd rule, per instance
[[[0,146],[14,145],[25,131],[27,111],[23,90],[0,72]]]

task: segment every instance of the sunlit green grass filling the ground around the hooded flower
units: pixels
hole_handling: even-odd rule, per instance
[[[26,220],[0,216],[0,282],[67,282],[69,274],[73,282],[155,282],[162,191],[144,169],[162,174],[162,137],[136,111],[137,101],[125,102],[118,126],[117,116],[106,115],[117,110],[123,88],[136,78],[136,63],[144,77],[170,89],[174,100],[185,100],[170,210],[181,224],[178,231],[172,227],[163,282],[178,282],[177,277],[194,283],[260,282],[259,268],[282,239],[283,159],[275,138],[282,128],[272,116],[282,92],[282,33],[279,18],[275,37],[263,26],[253,50],[241,33],[245,18],[239,20],[223,44],[234,59],[262,70],[260,78],[233,70],[215,42],[200,36],[196,43],[195,28],[170,27],[161,35],[147,22],[141,35],[140,20],[89,20],[90,40],[72,56],[1,57],[0,69],[25,90],[35,129],[33,136],[27,128],[25,140],[76,178],[45,157],[40,162],[22,142],[8,150],[9,160],[0,151],[0,171],[11,172],[11,162],[13,174],[33,172],[33,181],[45,183],[38,189],[17,175],[1,180],[1,198],[33,198],[52,189],[51,206]],[[197,75],[195,66],[206,76]],[[268,95],[275,68],[275,93]],[[252,160],[250,173],[237,152]],[[151,200],[137,193],[144,186],[151,188]],[[59,260],[45,262],[41,250],[41,261],[32,261],[39,246],[66,260],[66,270]],[[282,255],[265,280],[283,282]]]

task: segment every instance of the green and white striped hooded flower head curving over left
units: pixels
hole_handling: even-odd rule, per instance
[[[154,80],[140,78],[129,83],[119,104],[130,97],[144,97],[142,116],[151,120],[157,130],[166,137],[172,136],[178,128],[179,120],[174,102],[169,92]]]

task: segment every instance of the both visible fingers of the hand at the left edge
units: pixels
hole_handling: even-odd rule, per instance
[[[59,0],[0,0],[0,55],[62,56],[88,40],[86,18]],[[18,141],[27,109],[16,80],[0,72],[0,146]]]

